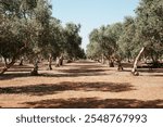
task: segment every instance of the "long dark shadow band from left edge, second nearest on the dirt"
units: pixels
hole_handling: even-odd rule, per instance
[[[134,87],[127,82],[71,82],[63,81],[60,84],[41,84],[21,87],[1,87],[0,94],[29,94],[29,96],[47,96],[54,94],[62,91],[102,91],[102,92],[123,92],[135,90]]]

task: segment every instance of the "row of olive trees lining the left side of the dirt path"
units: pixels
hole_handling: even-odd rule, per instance
[[[0,1],[0,56],[8,71],[21,56],[33,60],[32,74],[37,75],[38,54],[49,59],[66,54],[70,59],[83,58],[80,25],[67,23],[66,27],[51,16],[48,0],[1,0]],[[7,61],[10,59],[10,61]]]

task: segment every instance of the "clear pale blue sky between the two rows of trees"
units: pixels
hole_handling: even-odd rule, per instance
[[[82,25],[79,35],[86,50],[93,28],[135,16],[139,0],[51,0],[51,3],[52,16],[61,20],[63,26],[70,22]]]

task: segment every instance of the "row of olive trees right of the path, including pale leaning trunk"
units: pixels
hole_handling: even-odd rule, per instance
[[[87,56],[106,58],[110,66],[116,60],[133,59],[133,74],[137,75],[137,63],[143,53],[156,63],[163,55],[163,2],[162,0],[141,0],[136,17],[126,16],[123,23],[115,23],[93,29]],[[122,68],[122,66],[118,66]]]

